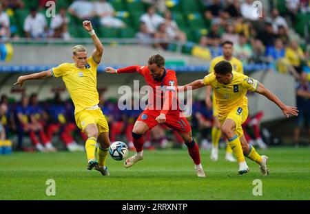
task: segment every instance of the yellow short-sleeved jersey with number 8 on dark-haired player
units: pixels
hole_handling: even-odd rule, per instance
[[[247,91],[255,92],[259,82],[247,75],[232,72],[232,81],[229,84],[221,84],[216,80],[214,73],[203,78],[206,85],[212,86],[218,107],[218,117],[225,117],[236,106],[247,105]]]

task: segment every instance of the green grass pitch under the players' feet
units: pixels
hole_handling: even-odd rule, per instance
[[[310,200],[309,147],[258,152],[269,156],[268,177],[251,160],[250,172],[237,176],[238,164],[227,163],[223,150],[216,163],[200,151],[206,179],[196,178],[187,150],[145,151],[129,169],[109,157],[110,177],[85,169],[83,152],[13,153],[0,156],[0,200]],[[54,196],[45,194],[50,178]],[[253,195],[255,179],[262,180],[261,196]]]

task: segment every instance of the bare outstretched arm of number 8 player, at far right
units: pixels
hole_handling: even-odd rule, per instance
[[[296,107],[286,106],[282,103],[282,101],[271,91],[269,91],[263,84],[259,84],[258,88],[256,90],[256,93],[260,93],[261,95],[264,95],[268,99],[270,99],[273,103],[275,103],[279,108],[282,110],[283,115],[286,117],[289,117],[289,115],[298,115],[298,110]]]

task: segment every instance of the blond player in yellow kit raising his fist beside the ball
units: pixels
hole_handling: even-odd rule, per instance
[[[83,27],[90,33],[96,47],[90,58],[87,58],[85,47],[76,45],[73,47],[72,58],[74,63],[63,63],[48,71],[20,76],[15,84],[23,86],[26,80],[62,77],[74,103],[76,125],[88,137],[85,143],[88,159],[87,169],[92,170],[94,168],[100,171],[103,176],[109,176],[110,173],[105,166],[110,147],[109,127],[101,108],[98,106],[99,93],[96,88],[96,69],[101,62],[103,45],[96,36],[90,21],[83,21]],[[95,158],[97,141],[99,141],[98,161]]]

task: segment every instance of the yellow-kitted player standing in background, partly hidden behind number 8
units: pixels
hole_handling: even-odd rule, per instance
[[[214,72],[214,66],[216,63],[226,60],[231,63],[231,66],[233,67],[233,71],[243,73],[243,67],[242,67],[242,62],[238,60],[237,58],[234,58],[233,52],[234,52],[234,44],[231,43],[230,41],[225,41],[222,43],[222,49],[223,49],[223,55],[218,56],[211,60],[210,67],[209,67],[209,73]],[[212,127],[211,130],[211,140],[212,140],[212,148],[211,148],[211,154],[210,158],[212,161],[217,161],[218,160],[218,142],[220,141],[220,136],[222,135],[222,132],[220,131],[220,121],[218,121],[218,109],[216,108],[216,99],[214,98],[215,95],[213,93],[212,95],[212,101],[210,98],[212,88],[211,86],[207,86],[206,88],[206,98],[205,98],[205,103],[207,104],[207,108],[213,109],[213,117],[214,117],[214,126]],[[230,161],[230,162],[236,162],[236,159],[232,155],[232,150],[229,147],[227,143],[226,147],[226,156],[225,160]]]

